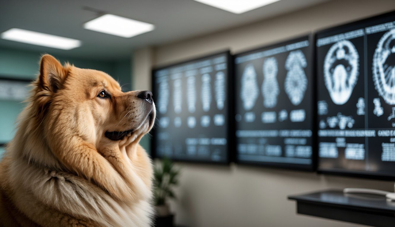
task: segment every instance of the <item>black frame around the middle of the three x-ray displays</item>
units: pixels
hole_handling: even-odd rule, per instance
[[[314,45],[314,43],[315,43],[315,36],[314,36],[314,33],[307,33],[307,34],[304,34],[304,35],[299,35],[299,36],[291,37],[291,38],[288,38],[288,39],[283,39],[283,40],[277,41],[275,43],[270,43],[268,45],[264,45],[264,46],[261,46],[261,47],[257,47],[257,48],[253,48],[253,49],[246,50],[246,51],[243,51],[243,52],[239,52],[237,54],[234,54],[233,58],[235,59],[235,58],[237,58],[237,56],[240,56],[240,55],[246,55],[246,54],[250,54],[250,53],[254,53],[254,52],[260,52],[260,51],[265,50],[265,49],[270,49],[272,47],[284,45],[286,43],[292,43],[293,41],[300,40],[300,39],[303,39],[303,38],[307,38],[308,41],[309,41],[310,61],[308,62],[308,65],[309,65],[308,67],[310,67],[310,73],[311,73],[311,77],[310,78],[312,80],[310,86],[312,86],[312,95],[313,95],[312,103],[310,104],[310,106],[312,108],[312,119],[311,119],[311,121],[312,121],[312,128],[311,128],[311,131],[312,131],[312,137],[311,137],[311,140],[312,140],[312,144],[311,144],[312,156],[310,158],[311,159],[311,164],[303,165],[303,164],[286,164],[286,163],[278,163],[278,162],[249,162],[249,161],[240,160],[240,159],[237,158],[237,150],[236,150],[236,146],[237,146],[236,145],[236,143],[237,143],[236,141],[237,141],[237,139],[236,139],[236,136],[235,136],[234,160],[235,160],[235,163],[237,163],[238,165],[241,165],[241,166],[268,167],[268,168],[276,168],[276,169],[288,169],[288,170],[305,171],[305,172],[314,172],[314,171],[316,171],[318,153],[317,153],[317,150],[316,150],[317,143],[316,143],[316,124],[315,124],[315,122],[316,122],[316,120],[315,120],[315,117],[316,117],[316,89],[315,89],[316,76],[314,74],[314,72],[315,72],[315,64],[314,64],[315,63],[314,62],[314,57],[315,57],[314,56],[314,53],[315,53],[315,45]],[[235,65],[234,62],[233,62],[233,64]],[[233,66],[233,67],[235,67],[235,66]],[[233,73],[234,73],[233,78],[236,78],[235,69],[233,69]],[[234,99],[234,100],[236,102],[236,99]],[[234,128],[235,128],[235,131],[236,131],[237,130],[236,126],[234,126]]]

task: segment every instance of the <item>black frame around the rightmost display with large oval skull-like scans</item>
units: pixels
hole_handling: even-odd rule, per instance
[[[314,33],[315,36],[315,40],[318,39],[318,36],[322,33],[330,33],[330,32],[334,32],[336,30],[343,30],[345,28],[349,28],[349,27],[353,27],[353,26],[361,26],[363,28],[365,28],[366,26],[371,26],[372,24],[374,24],[374,21],[376,20],[381,20],[387,17],[392,17],[395,20],[395,11],[389,11],[387,13],[384,14],[380,14],[380,15],[376,15],[376,16],[372,16],[372,17],[367,17],[365,19],[361,19],[361,20],[354,20],[352,22],[348,22],[348,23],[344,23],[344,24],[340,24],[337,26],[333,26],[333,27],[329,27],[329,28],[324,28],[322,30],[319,30],[317,32]],[[362,26],[362,24],[365,24],[364,26]],[[314,45],[316,46],[316,44]],[[316,48],[315,51],[315,57],[314,57],[314,66],[317,67],[318,62],[317,62],[317,55],[318,55],[318,50]],[[364,60],[365,61],[365,60]],[[316,78],[318,78],[318,69],[315,69],[315,73],[316,73]],[[361,75],[360,75],[361,76]],[[363,77],[365,77],[365,75],[363,75]],[[318,91],[320,89],[320,87],[318,87],[318,83],[316,82],[316,105],[317,105],[317,101],[318,101]],[[367,97],[365,97],[366,99]],[[367,114],[367,113],[366,113]],[[316,128],[318,128],[318,115],[316,114]],[[317,168],[316,171],[318,174],[323,174],[323,175],[335,175],[335,176],[342,176],[342,177],[354,177],[354,178],[365,178],[365,179],[373,179],[373,180],[388,180],[388,181],[394,181],[395,180],[395,171],[393,172],[393,174],[385,174],[383,172],[369,172],[369,171],[349,171],[346,169],[320,169],[320,157],[318,156],[318,135],[316,136],[317,140]]]

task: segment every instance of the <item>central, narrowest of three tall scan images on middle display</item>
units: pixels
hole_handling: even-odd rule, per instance
[[[263,61],[263,106],[274,108],[277,104],[277,96],[280,93],[277,82],[278,63],[275,57]]]

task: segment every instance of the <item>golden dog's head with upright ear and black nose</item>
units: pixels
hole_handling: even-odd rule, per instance
[[[137,143],[154,124],[152,93],[122,92],[119,83],[102,71],[62,66],[44,55],[37,83],[41,118],[56,112],[58,121],[68,122],[62,127],[76,127],[98,149]],[[54,123],[59,125],[58,121]]]

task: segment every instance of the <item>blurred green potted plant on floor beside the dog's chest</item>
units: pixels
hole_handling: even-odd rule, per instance
[[[169,158],[163,158],[154,167],[155,226],[173,226],[174,215],[170,214],[168,199],[175,199],[173,187],[178,184],[179,169]]]

